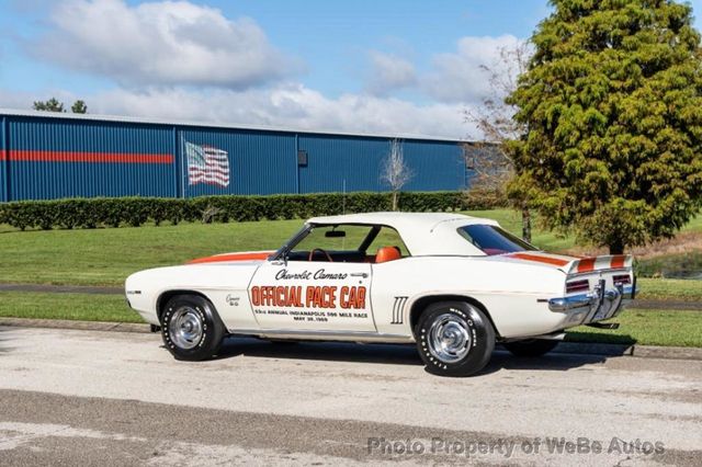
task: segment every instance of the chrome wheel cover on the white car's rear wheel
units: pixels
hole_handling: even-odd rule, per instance
[[[468,323],[457,315],[441,315],[429,328],[429,352],[442,363],[463,360],[471,351],[472,342]]]

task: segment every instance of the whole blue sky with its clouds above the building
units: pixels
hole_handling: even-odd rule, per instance
[[[463,111],[489,92],[480,65],[548,11],[537,0],[2,0],[0,106],[56,95],[91,113],[476,137]]]

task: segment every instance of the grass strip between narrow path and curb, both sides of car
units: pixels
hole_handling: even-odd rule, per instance
[[[0,317],[82,321],[143,322],[118,295],[0,294]],[[702,348],[702,312],[626,310],[620,329],[574,328],[570,342],[605,342]]]

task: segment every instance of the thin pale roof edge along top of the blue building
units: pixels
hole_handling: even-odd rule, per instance
[[[99,115],[99,114],[72,114],[72,113],[58,113],[58,112],[41,112],[41,111],[24,111],[15,109],[2,109],[0,107],[0,116],[23,116],[23,117],[41,117],[41,118],[56,118],[56,119],[77,119],[77,121],[90,121],[90,122],[110,122],[110,123],[141,123],[152,125],[179,125],[191,126],[201,128],[227,128],[227,129],[245,129],[253,132],[267,132],[267,133],[294,133],[294,134],[307,134],[307,135],[333,135],[333,136],[350,136],[350,137],[367,137],[367,138],[384,138],[384,139],[412,139],[412,140],[429,140],[429,141],[442,141],[442,143],[455,143],[455,144],[490,144],[489,141],[469,140],[469,139],[454,139],[440,136],[429,135],[414,135],[414,134],[382,134],[382,133],[352,133],[352,132],[335,132],[330,129],[303,129],[292,127],[275,127],[267,125],[245,125],[235,123],[211,123],[211,122],[195,122],[195,121],[180,121],[180,119],[166,119],[166,118],[148,118],[148,117],[134,117],[134,116],[120,116],[120,115]]]

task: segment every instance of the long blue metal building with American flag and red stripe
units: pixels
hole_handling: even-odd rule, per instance
[[[0,123],[0,201],[386,191],[396,138],[4,110]],[[466,187],[471,145],[399,140],[403,190]]]

